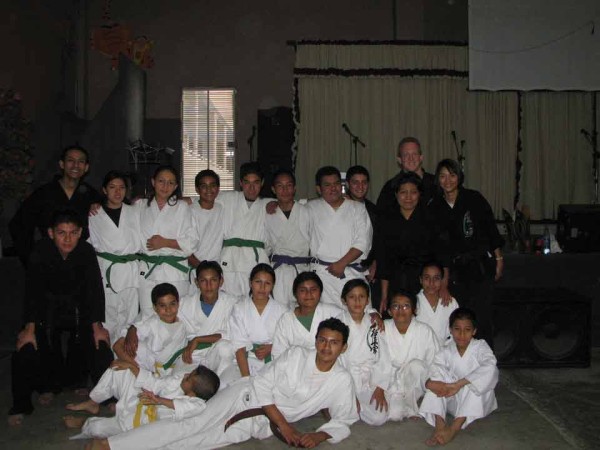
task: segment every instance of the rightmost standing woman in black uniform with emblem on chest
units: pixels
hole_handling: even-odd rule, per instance
[[[449,272],[442,291],[475,311],[477,336],[492,346],[493,288],[504,270],[504,240],[487,200],[463,187],[464,175],[456,161],[440,161],[435,180],[440,190],[428,209],[440,227],[439,250]]]

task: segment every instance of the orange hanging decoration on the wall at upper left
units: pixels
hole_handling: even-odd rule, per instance
[[[104,3],[104,24],[92,31],[91,46],[104,56],[111,59],[111,69],[119,66],[119,54],[124,54],[143,69],[154,66],[154,59],[150,54],[154,41],[146,36],[132,38],[131,29],[127,25],[119,24],[111,19],[111,0]]]

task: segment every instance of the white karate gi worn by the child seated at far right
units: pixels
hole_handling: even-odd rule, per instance
[[[449,342],[435,355],[429,378],[445,383],[469,380],[449,398],[438,397],[429,390],[425,393],[419,412],[431,426],[435,426],[436,415],[445,419],[449,412],[454,417],[466,417],[464,429],[498,408],[494,395],[498,383],[496,357],[483,339],[472,339],[462,356],[454,342]]]

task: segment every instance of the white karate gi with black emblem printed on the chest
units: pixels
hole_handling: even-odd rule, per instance
[[[371,396],[376,387],[385,387],[389,384],[391,362],[388,358],[385,339],[381,338],[377,326],[372,326],[368,313],[362,318],[360,324],[356,323],[348,311],[344,311],[340,319],[348,325],[348,349],[340,356],[340,362],[352,375],[356,398],[360,403],[360,418],[369,425],[383,425],[388,417],[384,411],[377,411],[375,402],[371,403]]]

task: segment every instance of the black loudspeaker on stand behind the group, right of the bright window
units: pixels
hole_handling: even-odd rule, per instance
[[[279,106],[258,110],[258,163],[265,175],[261,195],[272,197],[273,174],[281,169],[292,170],[294,120],[292,108]]]

